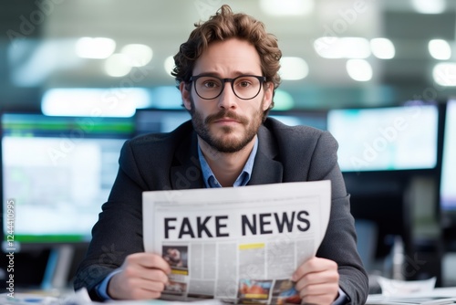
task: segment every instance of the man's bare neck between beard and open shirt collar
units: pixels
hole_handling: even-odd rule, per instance
[[[209,164],[209,167],[211,167],[215,178],[223,187],[226,187],[233,186],[234,181],[236,181],[239,174],[243,171],[244,165],[254,148],[256,137],[245,145],[241,151],[236,153],[220,153],[219,151],[214,150],[201,138],[198,138],[198,141],[202,154]]]

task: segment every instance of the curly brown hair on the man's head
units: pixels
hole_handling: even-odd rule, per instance
[[[278,70],[282,51],[277,45],[277,38],[266,33],[261,21],[242,13],[233,14],[229,5],[222,5],[209,20],[195,23],[194,26],[196,28],[190,34],[189,39],[181,44],[179,52],[174,56],[175,67],[171,75],[176,78],[178,84],[181,81],[190,82],[196,60],[212,41],[223,41],[236,37],[248,41],[256,48],[266,81],[272,82],[274,89],[279,86]]]

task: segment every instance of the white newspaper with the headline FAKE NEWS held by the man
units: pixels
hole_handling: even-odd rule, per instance
[[[291,276],[325,236],[331,182],[144,192],[146,252],[171,265],[164,300],[299,303]]]

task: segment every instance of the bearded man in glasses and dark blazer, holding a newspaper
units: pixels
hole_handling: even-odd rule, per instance
[[[76,289],[87,287],[95,300],[161,297],[171,268],[161,256],[144,253],[143,191],[331,180],[326,237],[292,279],[306,303],[365,302],[368,279],[337,142],[325,131],[266,118],[280,83],[281,55],[261,22],[233,14],[227,5],[196,25],[173,70],[192,121],[126,142]]]

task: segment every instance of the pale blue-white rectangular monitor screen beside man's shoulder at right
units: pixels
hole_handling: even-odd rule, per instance
[[[437,165],[439,110],[414,104],[329,110],[343,172],[432,169]]]

